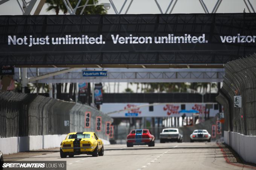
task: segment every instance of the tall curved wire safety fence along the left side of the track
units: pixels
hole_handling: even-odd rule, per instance
[[[90,112],[85,128],[85,112]],[[96,132],[96,116],[101,131]],[[0,92],[0,138],[92,131],[108,140],[105,122],[113,119],[88,105],[35,94]]]

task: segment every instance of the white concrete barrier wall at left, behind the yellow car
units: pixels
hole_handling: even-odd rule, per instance
[[[0,138],[0,150],[4,155],[7,155],[29,150],[55,148],[60,146],[61,141],[64,140],[66,136],[67,135],[64,134]],[[107,140],[101,140],[105,145],[110,144]]]

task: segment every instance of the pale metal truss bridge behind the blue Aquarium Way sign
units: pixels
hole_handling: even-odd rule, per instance
[[[82,77],[83,69],[54,74],[59,68],[36,68],[27,69],[29,82],[33,83],[104,83],[104,82],[222,82],[224,69],[125,69],[108,68],[107,77]],[[94,69],[88,69],[94,70]],[[99,69],[102,70],[102,69]],[[19,79],[20,69],[15,68],[14,79]],[[41,78],[43,79],[41,79]],[[34,81],[33,81],[34,80]]]

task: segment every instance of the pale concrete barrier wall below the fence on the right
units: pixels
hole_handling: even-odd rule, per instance
[[[224,131],[224,142],[232,147],[245,162],[256,164],[256,136]]]

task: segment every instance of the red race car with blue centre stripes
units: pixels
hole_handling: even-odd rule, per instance
[[[133,145],[147,145],[155,146],[155,137],[151,134],[149,129],[133,129],[126,138],[127,147]]]

